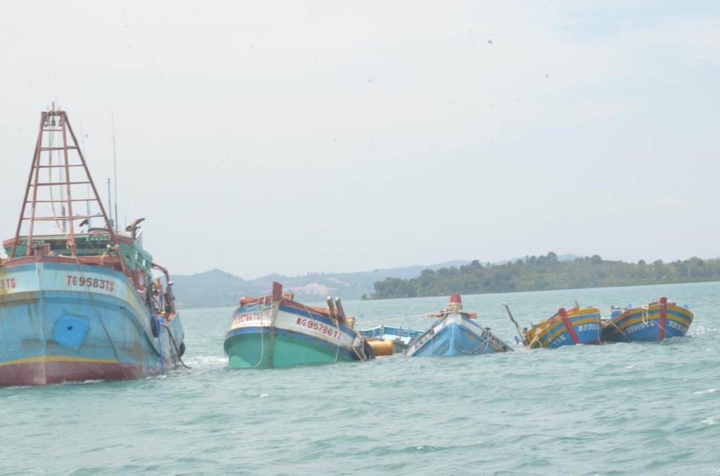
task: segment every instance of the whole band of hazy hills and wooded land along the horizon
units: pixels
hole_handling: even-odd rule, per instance
[[[423,273],[425,270],[431,271]],[[581,257],[548,253],[547,256],[526,256],[492,264],[456,260],[355,273],[308,273],[298,277],[270,274],[251,280],[212,269],[190,276],[174,275],[172,279],[180,307],[230,307],[238,305],[241,296],[269,294],[273,281],[281,283],[286,292],[294,293],[297,300],[305,302],[325,301],[328,296],[343,300],[356,300],[363,295],[370,299],[386,299],[440,296],[451,292],[477,294],[717,281],[720,280],[720,259],[693,257],[667,264],[662,260],[652,264],[643,260],[629,264],[605,261],[598,255]]]

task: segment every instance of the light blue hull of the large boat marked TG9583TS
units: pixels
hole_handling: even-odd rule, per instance
[[[117,271],[58,260],[3,266],[0,280],[1,386],[132,380],[179,362],[179,316],[158,339],[153,315]]]

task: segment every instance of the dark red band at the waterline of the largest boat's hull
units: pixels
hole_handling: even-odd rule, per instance
[[[138,364],[106,362],[24,362],[0,365],[0,387],[51,385],[86,380],[135,380],[160,372]]]

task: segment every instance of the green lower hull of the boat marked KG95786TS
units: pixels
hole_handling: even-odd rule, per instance
[[[318,345],[302,338],[273,333],[230,337],[225,341],[225,354],[228,355],[228,367],[233,369],[273,369],[354,360],[343,349],[336,351],[325,343]]]

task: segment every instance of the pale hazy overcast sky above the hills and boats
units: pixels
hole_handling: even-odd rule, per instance
[[[0,44],[2,239],[55,102],[173,274],[720,256],[716,1],[0,0]]]

